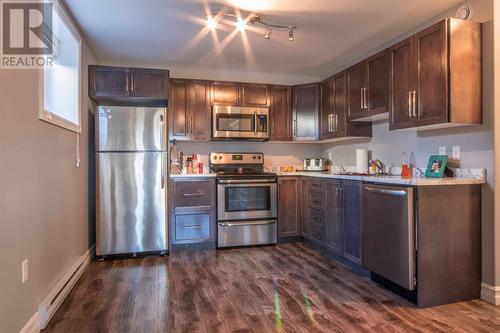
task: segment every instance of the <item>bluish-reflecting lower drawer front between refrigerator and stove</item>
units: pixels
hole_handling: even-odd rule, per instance
[[[175,215],[175,243],[191,243],[210,239],[210,213]]]

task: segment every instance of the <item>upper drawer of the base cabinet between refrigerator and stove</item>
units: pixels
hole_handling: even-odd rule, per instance
[[[174,181],[174,207],[212,206],[213,180]]]

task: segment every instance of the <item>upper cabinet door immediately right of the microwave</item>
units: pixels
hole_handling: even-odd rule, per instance
[[[270,140],[292,140],[291,88],[288,86],[271,87]]]

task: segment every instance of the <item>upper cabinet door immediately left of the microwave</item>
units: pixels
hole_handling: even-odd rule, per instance
[[[210,140],[212,135],[208,81],[191,81],[189,111],[189,138],[197,141]]]

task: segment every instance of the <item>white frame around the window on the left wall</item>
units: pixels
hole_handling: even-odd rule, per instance
[[[70,130],[75,133],[81,133],[82,132],[82,38],[80,36],[80,33],[76,29],[73,21],[71,20],[70,16],[68,15],[66,9],[64,6],[61,5],[59,0],[52,0],[54,9],[57,11],[59,16],[61,17],[62,21],[66,24],[66,27],[68,30],[71,32],[73,37],[75,37],[76,41],[78,42],[78,125],[66,120],[57,114],[54,114],[48,110],[45,110],[45,101],[44,101],[44,96],[45,96],[45,91],[44,91],[44,70],[40,70],[40,80],[39,80],[39,93],[40,93],[40,98],[39,98],[39,108],[38,108],[38,119],[43,120],[45,122],[48,122],[52,125],[62,127],[64,129]]]

